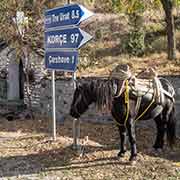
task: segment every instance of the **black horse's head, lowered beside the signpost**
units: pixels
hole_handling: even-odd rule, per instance
[[[88,106],[94,99],[92,83],[78,84],[74,92],[70,115],[74,118],[79,118],[88,109]]]

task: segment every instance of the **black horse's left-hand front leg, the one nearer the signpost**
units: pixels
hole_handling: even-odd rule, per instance
[[[123,157],[125,152],[126,152],[126,148],[125,148],[125,143],[126,143],[126,128],[124,126],[119,126],[119,135],[120,135],[120,151],[118,153],[118,157]]]

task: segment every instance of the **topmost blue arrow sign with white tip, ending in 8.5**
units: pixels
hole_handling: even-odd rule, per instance
[[[45,29],[78,25],[93,13],[79,4],[49,9],[45,12]]]

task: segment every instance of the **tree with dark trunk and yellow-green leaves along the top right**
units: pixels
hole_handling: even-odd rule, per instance
[[[165,12],[166,29],[167,29],[167,53],[168,59],[176,59],[176,38],[174,27],[173,7],[180,4],[180,0],[112,0],[115,9],[125,12],[144,12],[147,8],[162,7]]]

